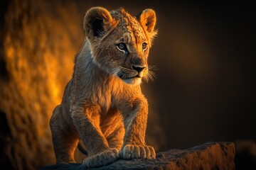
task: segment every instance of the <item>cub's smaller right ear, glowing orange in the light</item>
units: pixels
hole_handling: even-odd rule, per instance
[[[154,30],[154,26],[156,25],[156,13],[154,10],[150,8],[145,9],[139,13],[136,18],[144,30],[146,30],[150,40],[152,41],[157,34],[157,30]]]

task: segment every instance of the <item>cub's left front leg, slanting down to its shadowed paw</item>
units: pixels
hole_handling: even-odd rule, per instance
[[[119,158],[119,151],[110,148],[105,136],[100,130],[100,115],[97,106],[86,108],[73,106],[73,123],[88,149],[88,157],[83,164],[87,168],[105,166]]]

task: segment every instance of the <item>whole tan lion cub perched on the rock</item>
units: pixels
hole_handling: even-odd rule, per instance
[[[75,162],[80,139],[87,147],[87,167],[119,157],[155,158],[154,148],[145,143],[148,103],[140,88],[142,78],[151,78],[147,57],[155,23],[151,9],[137,18],[123,8],[87,11],[85,42],[75,58],[73,78],[50,119],[57,162]]]

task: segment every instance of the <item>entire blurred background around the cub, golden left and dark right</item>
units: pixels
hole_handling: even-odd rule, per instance
[[[164,1],[1,1],[0,164],[55,164],[49,128],[71,78],[92,6],[152,8],[159,31],[149,54],[156,79],[146,141],[157,152],[208,141],[234,142],[236,169],[254,169],[255,5]]]

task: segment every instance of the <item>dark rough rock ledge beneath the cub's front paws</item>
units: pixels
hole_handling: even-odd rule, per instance
[[[156,154],[156,159],[119,159],[102,169],[235,169],[235,145],[233,142],[206,142],[189,149],[171,149]],[[41,168],[50,169],[85,169],[82,164],[55,164]]]

